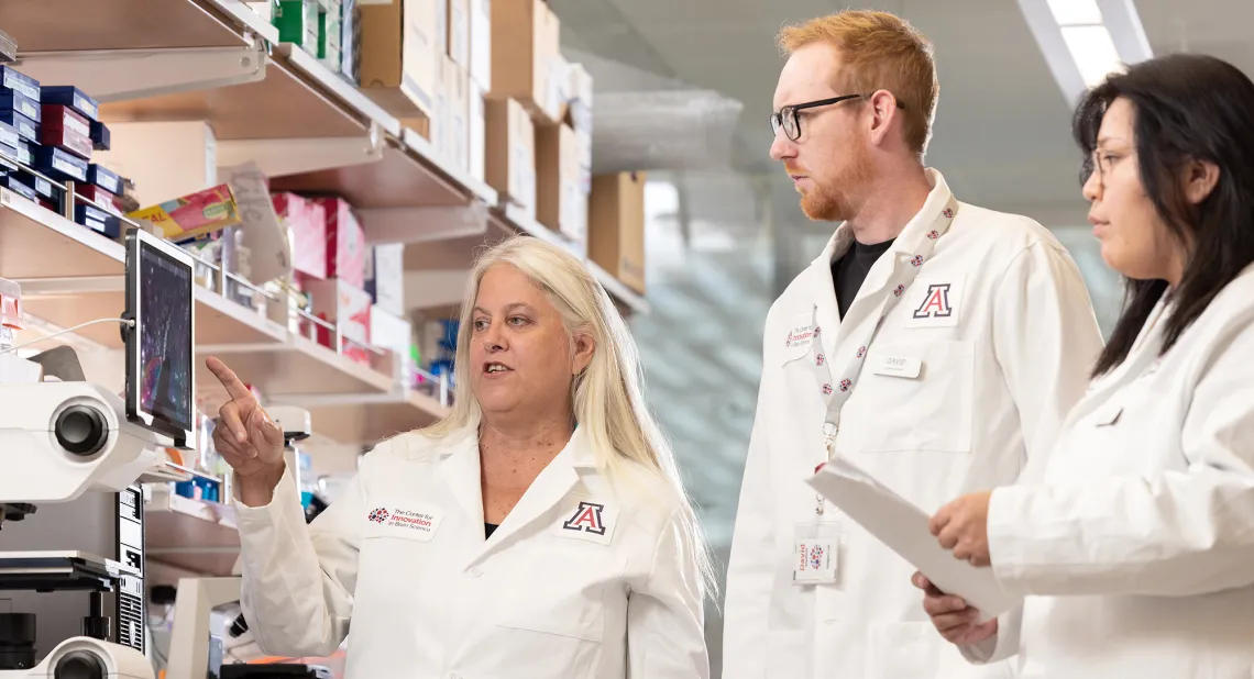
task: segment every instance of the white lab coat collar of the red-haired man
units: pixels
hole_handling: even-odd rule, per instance
[[[854,298],[853,304],[850,304],[845,318],[840,318],[840,311],[836,306],[835,288],[831,281],[831,262],[848,252],[850,244],[854,242],[854,232],[848,222],[841,223],[836,228],[836,232],[828,241],[828,247],[823,249],[823,254],[810,264],[809,289],[814,296],[814,322],[820,328],[834,328],[836,331],[820,333],[823,351],[828,356],[835,355],[836,346],[844,340],[844,336],[851,327],[858,326],[859,322],[865,319],[867,314],[877,312],[878,307],[875,304],[868,306],[864,301],[875,297],[889,283],[893,272],[903,259],[900,256],[909,258],[915,253],[922,241],[927,238],[928,232],[932,231],[937,215],[940,214],[940,210],[946,208],[953,197],[949,184],[946,183],[944,177],[938,170],[925,168],[924,174],[932,184],[932,190],[928,192],[928,198],[924,200],[923,208],[905,224],[902,233],[893,241],[893,246],[888,253],[877,259],[870,271],[867,272],[867,278],[859,287],[858,296]],[[829,362],[828,367],[829,370],[841,370],[844,363]]]

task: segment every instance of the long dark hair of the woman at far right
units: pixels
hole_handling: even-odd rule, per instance
[[[1206,309],[1233,278],[1254,262],[1254,83],[1226,61],[1174,54],[1142,61],[1090,90],[1076,108],[1072,133],[1085,153],[1081,179],[1095,170],[1097,132],[1107,108],[1132,104],[1141,184],[1171,236],[1190,249],[1184,276],[1171,291],[1164,319],[1162,353]],[[1188,163],[1219,168],[1219,180],[1201,203],[1181,187]],[[1093,376],[1122,363],[1166,281],[1126,279],[1127,301]]]

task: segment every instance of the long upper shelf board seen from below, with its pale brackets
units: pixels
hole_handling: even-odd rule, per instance
[[[342,195],[362,212],[372,243],[489,237],[484,208],[507,202],[441,158],[322,60],[278,40],[276,26],[238,0],[49,0],[0,8],[36,79],[83,83],[114,124],[203,120],[219,165],[255,162],[276,190]],[[56,16],[56,21],[49,21]],[[552,90],[553,88],[549,86]],[[513,210],[513,232],[556,231]],[[593,267],[619,303],[643,297]]]

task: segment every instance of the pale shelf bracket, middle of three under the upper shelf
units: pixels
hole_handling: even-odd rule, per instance
[[[253,162],[267,177],[287,177],[377,163],[384,158],[384,135],[371,122],[362,137],[314,139],[219,139],[218,165]]]

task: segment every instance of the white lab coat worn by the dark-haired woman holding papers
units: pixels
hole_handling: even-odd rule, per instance
[[[993,491],[993,570],[1030,596],[973,659],[1017,650],[1023,679],[1254,676],[1254,267],[1161,360],[1146,326],[1043,479]]]

